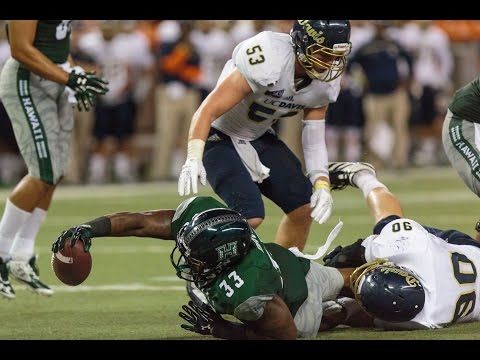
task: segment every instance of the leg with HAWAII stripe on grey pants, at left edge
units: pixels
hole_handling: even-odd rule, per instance
[[[5,269],[9,267],[12,244],[24,225],[30,223],[34,210],[54,184],[47,134],[38,112],[38,99],[35,102],[31,93],[34,88],[30,73],[22,69],[17,61],[7,61],[0,78],[0,97],[29,171],[8,197],[0,221],[0,257],[3,259],[0,265],[3,280],[0,294],[10,298],[14,294]],[[53,100],[45,95],[43,97],[43,106],[52,107],[47,111],[56,113]]]

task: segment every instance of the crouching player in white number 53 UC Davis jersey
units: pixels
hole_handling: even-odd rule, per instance
[[[208,178],[253,228],[265,217],[263,194],[286,214],[275,241],[303,249],[312,218],[324,223],[332,211],[325,113],[350,49],[347,20],[297,20],[290,34],[264,31],[238,44],[193,116],[179,194],[197,193],[198,178]],[[271,128],[298,112],[306,176]]]

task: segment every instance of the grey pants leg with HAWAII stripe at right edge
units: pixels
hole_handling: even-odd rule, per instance
[[[447,111],[442,129],[442,142],[448,160],[465,185],[480,197],[480,124],[465,121]],[[480,241],[477,230],[476,239]]]

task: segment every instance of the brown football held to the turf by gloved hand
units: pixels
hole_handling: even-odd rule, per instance
[[[70,239],[65,246],[52,255],[52,269],[57,278],[64,284],[76,286],[85,281],[92,269],[92,255],[83,251],[83,242],[77,240],[70,245]]]

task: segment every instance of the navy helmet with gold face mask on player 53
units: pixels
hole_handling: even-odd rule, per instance
[[[311,79],[332,81],[343,73],[352,49],[348,20],[297,20],[290,35]]]

